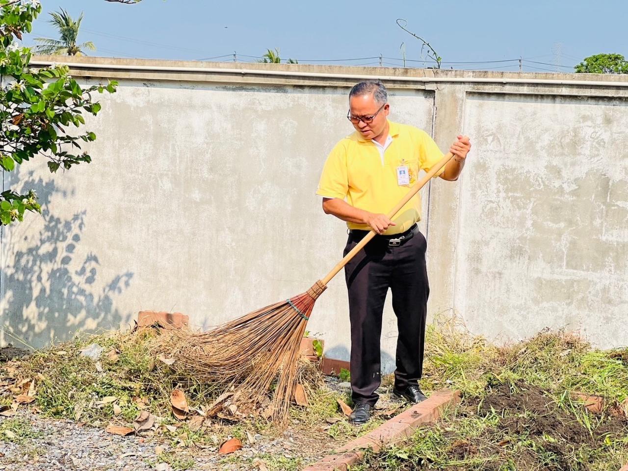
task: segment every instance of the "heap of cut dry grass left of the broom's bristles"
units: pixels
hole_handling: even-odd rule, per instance
[[[122,419],[133,421],[142,398],[146,398],[151,413],[170,416],[170,393],[175,387],[185,388],[192,406],[212,397],[211,387],[173,375],[167,364],[149,354],[155,335],[153,329],[84,335],[37,350],[9,366],[20,377],[35,378],[35,404],[43,415],[95,425],[114,415],[114,403],[122,409]],[[90,344],[103,347],[97,361],[80,354]],[[108,352],[114,354],[110,357]],[[106,397],[117,399],[97,404]]]

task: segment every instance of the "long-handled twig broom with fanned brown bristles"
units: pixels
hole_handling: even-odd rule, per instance
[[[415,183],[387,214],[389,219],[393,219],[452,158],[453,154],[447,153]],[[327,283],[375,235],[376,232],[371,230],[327,276],[305,293],[248,313],[209,332],[173,330],[171,336],[163,337],[157,352],[175,359],[172,367],[184,376],[212,384],[222,393],[234,391],[231,400],[239,404],[240,410],[261,407],[267,418],[285,421],[295,394],[301,338],[314,303],[327,288]],[[268,394],[273,387],[271,403]]]

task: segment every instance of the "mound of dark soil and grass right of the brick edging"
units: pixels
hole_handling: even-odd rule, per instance
[[[612,443],[625,447],[627,434],[625,416],[593,414],[519,381],[463,401],[449,418],[417,430],[408,445],[367,454],[356,469],[588,471],[602,469],[595,465],[607,462]]]

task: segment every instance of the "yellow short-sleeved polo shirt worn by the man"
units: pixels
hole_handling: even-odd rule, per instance
[[[433,139],[414,126],[389,121],[393,142],[383,157],[376,144],[355,131],[332,149],[325,161],[317,195],[347,199],[347,203],[376,214],[387,214],[416,183],[419,170],[430,168],[443,158]],[[399,185],[397,168],[408,166],[409,185]],[[441,169],[436,175],[443,173]],[[408,230],[421,219],[421,195],[417,193],[397,213],[384,234]],[[364,224],[347,222],[349,229],[371,230]]]

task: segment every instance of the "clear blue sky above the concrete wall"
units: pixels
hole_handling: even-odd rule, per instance
[[[299,62],[423,67],[421,44],[395,23],[425,38],[443,68],[570,72],[582,58],[618,52],[628,56],[628,1],[220,1],[143,0],[125,5],[104,0],[41,0],[33,36],[56,37],[49,11],[84,12],[80,41],[91,55],[109,57],[254,61],[266,48]],[[246,57],[250,56],[250,57]],[[352,60],[345,60],[352,59]],[[353,60],[355,59],[355,60]],[[332,62],[332,60],[337,60]],[[513,60],[512,62],[488,62]],[[478,63],[453,63],[473,62]],[[534,63],[529,61],[541,62]],[[480,63],[481,62],[481,63]],[[430,65],[428,63],[428,65]]]

